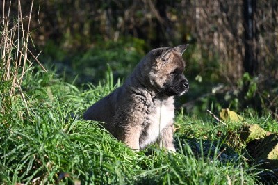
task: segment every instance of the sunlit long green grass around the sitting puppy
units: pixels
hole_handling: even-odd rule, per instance
[[[107,95],[111,73],[98,86],[83,89],[60,82],[54,72],[26,74],[21,96],[2,102],[0,114],[0,181],[73,184],[256,184],[259,170],[240,153],[223,152],[228,131],[209,115],[206,120],[178,113],[178,152],[152,145],[134,152],[97,124],[81,119],[90,104]],[[119,86],[120,83],[117,84]],[[7,88],[1,83],[1,88]],[[3,96],[1,97],[3,99]],[[73,116],[74,115],[74,116]],[[76,118],[77,117],[77,118]],[[271,118],[250,118],[272,130]]]

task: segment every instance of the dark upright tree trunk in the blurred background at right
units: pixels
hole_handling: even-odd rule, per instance
[[[258,49],[256,47],[257,33],[254,21],[255,11],[256,0],[243,1],[243,25],[245,29],[245,57],[243,59],[243,67],[245,72],[248,72],[252,76],[258,72]]]

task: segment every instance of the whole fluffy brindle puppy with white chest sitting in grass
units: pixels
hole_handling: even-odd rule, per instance
[[[173,144],[174,95],[188,90],[181,55],[188,45],[153,49],[142,58],[124,84],[85,111],[85,120],[104,127],[134,150],[158,141]]]

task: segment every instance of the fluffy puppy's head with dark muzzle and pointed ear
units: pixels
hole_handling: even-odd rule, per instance
[[[152,55],[149,81],[160,95],[183,95],[188,91],[188,80],[183,75],[186,63],[181,58],[187,47],[162,47],[149,52]]]

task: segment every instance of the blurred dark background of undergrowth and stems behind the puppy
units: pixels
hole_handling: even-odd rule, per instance
[[[31,1],[21,3],[28,22]],[[190,91],[177,106],[277,118],[277,0],[37,0],[32,12],[33,53],[76,86],[98,83],[108,66],[124,79],[150,49],[189,43]]]

